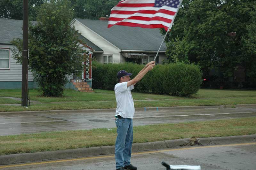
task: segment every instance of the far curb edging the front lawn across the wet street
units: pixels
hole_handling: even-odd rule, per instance
[[[173,107],[137,107],[136,111],[161,111],[161,110],[180,110],[180,109],[208,109],[208,108],[225,108],[233,106],[255,106],[256,104],[227,104],[227,105],[214,105],[214,106],[173,106]],[[44,114],[44,113],[103,113],[103,112],[116,112],[116,109],[79,109],[79,110],[46,110],[46,111],[21,111],[21,112],[0,112],[4,114]]]

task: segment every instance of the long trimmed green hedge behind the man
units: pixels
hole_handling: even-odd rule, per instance
[[[134,78],[143,65],[132,63],[99,64],[92,63],[92,88],[114,90],[117,83],[116,74],[120,70],[133,73]],[[136,84],[134,92],[154,94],[172,94],[190,96],[195,94],[202,83],[202,72],[197,65],[168,64],[157,65]]]

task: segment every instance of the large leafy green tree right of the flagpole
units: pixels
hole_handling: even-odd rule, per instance
[[[196,62],[224,77],[255,60],[254,0],[184,0],[166,39],[169,62]],[[164,32],[162,30],[162,32]]]

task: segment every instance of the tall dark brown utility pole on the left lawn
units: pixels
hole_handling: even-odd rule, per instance
[[[28,106],[28,0],[23,0],[23,51],[21,106]]]

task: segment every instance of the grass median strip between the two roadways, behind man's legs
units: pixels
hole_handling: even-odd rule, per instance
[[[256,134],[256,118],[168,123],[133,128],[134,143]],[[115,145],[116,128],[0,136],[0,155]]]

